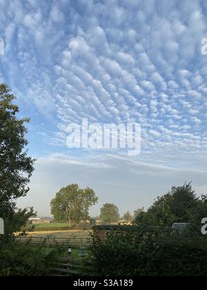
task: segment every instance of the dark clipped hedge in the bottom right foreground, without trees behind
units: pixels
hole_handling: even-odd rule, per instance
[[[94,276],[206,276],[206,239],[168,231],[109,231],[92,245]]]

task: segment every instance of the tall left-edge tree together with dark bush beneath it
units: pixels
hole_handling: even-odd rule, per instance
[[[46,269],[46,258],[32,251],[29,244],[15,242],[14,232],[20,231],[33,209],[17,209],[17,199],[29,191],[28,183],[34,160],[28,157],[25,123],[17,119],[19,108],[6,84],[0,85],[0,217],[5,222],[5,235],[0,236],[0,275],[37,276]],[[50,259],[48,259],[50,260]]]

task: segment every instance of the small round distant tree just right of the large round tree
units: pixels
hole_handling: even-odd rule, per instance
[[[103,204],[100,219],[108,224],[117,222],[119,220],[119,209],[115,204]]]

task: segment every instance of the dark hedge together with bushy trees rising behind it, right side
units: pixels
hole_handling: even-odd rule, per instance
[[[197,197],[190,183],[172,187],[142,210],[134,226],[107,231],[92,244],[97,276],[207,276],[207,197]],[[185,223],[173,231],[174,222]]]

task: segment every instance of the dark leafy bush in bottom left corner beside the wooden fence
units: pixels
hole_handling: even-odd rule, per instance
[[[47,276],[50,267],[59,257],[61,248],[57,246],[46,253],[46,245],[12,242],[0,249],[0,276]]]

